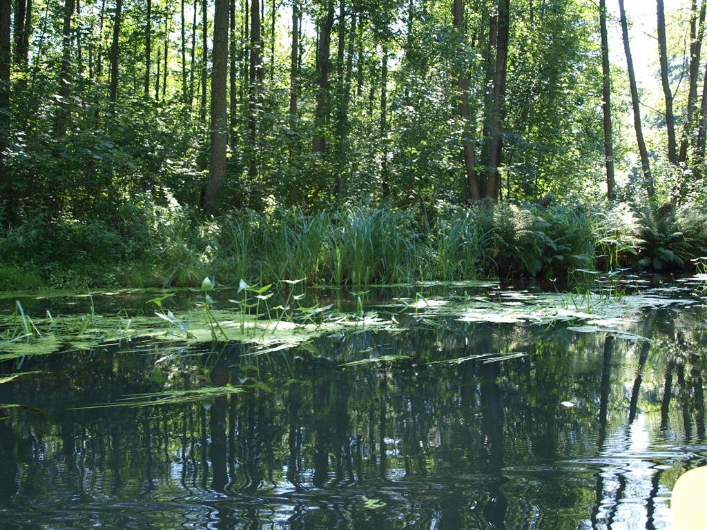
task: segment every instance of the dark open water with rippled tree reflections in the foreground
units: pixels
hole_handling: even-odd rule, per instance
[[[401,334],[261,357],[232,344],[156,364],[134,341],[26,359],[43,373],[1,384],[0,403],[41,412],[0,420],[0,528],[670,527],[675,481],[707,464],[702,304],[643,312],[632,331],[653,342],[403,318]],[[494,351],[528,355],[427,364]],[[415,360],[339,367],[372,352]],[[254,379],[271,391],[71,410]]]

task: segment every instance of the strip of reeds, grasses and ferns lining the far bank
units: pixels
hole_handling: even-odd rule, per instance
[[[567,278],[574,271],[702,271],[707,211],[629,206],[349,206],[240,211],[204,220],[154,204],[115,219],[0,232],[2,290],[197,288],[240,279],[376,285],[487,278]]]

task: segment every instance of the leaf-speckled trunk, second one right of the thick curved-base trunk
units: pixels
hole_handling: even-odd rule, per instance
[[[248,175],[255,180],[258,175],[257,124],[262,105],[262,38],[260,33],[260,6],[258,0],[250,3],[250,69],[248,71],[248,130],[250,131],[250,156]]]

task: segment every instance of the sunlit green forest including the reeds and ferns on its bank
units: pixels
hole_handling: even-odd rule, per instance
[[[699,268],[682,4],[646,85],[624,1],[1,0],[0,281]]]

